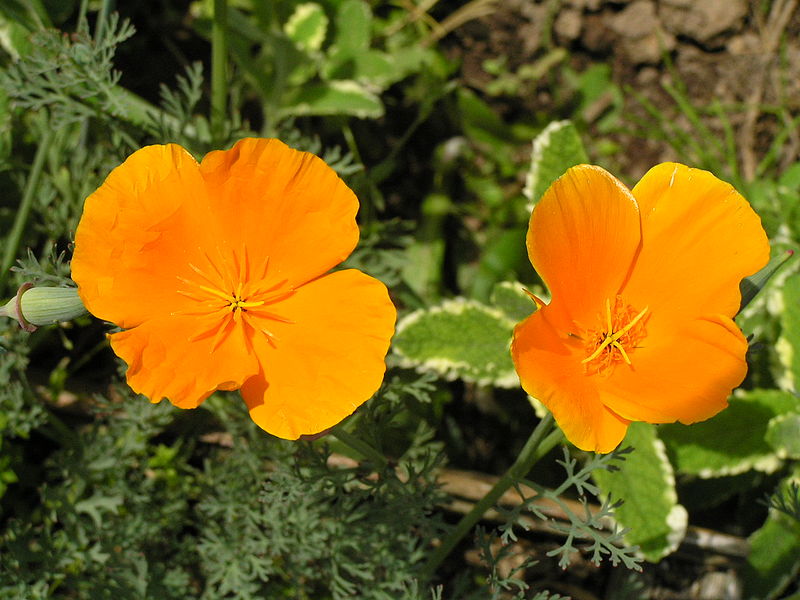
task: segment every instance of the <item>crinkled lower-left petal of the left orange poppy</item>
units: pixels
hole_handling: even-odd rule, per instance
[[[152,402],[168,398],[180,408],[197,407],[215,390],[241,387],[258,372],[244,327],[231,325],[219,345],[213,335],[195,339],[219,321],[160,317],[110,335],[114,352],[128,364],[128,385]]]

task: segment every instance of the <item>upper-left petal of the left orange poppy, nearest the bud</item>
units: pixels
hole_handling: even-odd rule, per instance
[[[87,309],[120,327],[164,316],[186,299],[176,275],[206,243],[210,222],[197,162],[180,146],[147,146],[86,199],[72,277]]]

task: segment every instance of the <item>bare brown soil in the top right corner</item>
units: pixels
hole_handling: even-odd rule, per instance
[[[797,0],[476,0],[469,4],[481,5],[483,16],[454,30],[445,43],[453,44],[452,53],[462,61],[464,83],[478,92],[487,92],[495,79],[487,72],[487,59],[503,58],[513,73],[548,52],[566,50],[564,61],[516,98],[495,97],[501,108],[564,114],[570,108],[564,105],[564,92],[553,89],[568,87],[559,70],[569,66],[581,72],[594,64],[610,67],[611,80],[624,96],[615,131],[609,134],[597,127],[610,108],[608,98],[605,106],[600,101],[580,117],[590,135],[615,142],[620,151],[604,162],[611,162],[632,181],[658,162],[691,158],[678,156],[666,140],[652,139],[658,121],[648,115],[643,99],[664,114],[664,121],[697,137],[696,126],[665,85],[684,86],[688,100],[701,111],[722,109],[735,135],[744,179],[753,178],[756,162],[776,132],[787,127],[787,115],[800,113]],[[782,115],[772,110],[779,105],[785,109]],[[724,121],[705,113],[705,125],[721,139]],[[800,156],[796,123],[788,127],[791,132],[779,169]],[[591,152],[592,144],[588,145]]]

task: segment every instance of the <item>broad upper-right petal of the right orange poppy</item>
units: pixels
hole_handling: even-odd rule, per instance
[[[653,167],[633,188],[642,251],[627,301],[655,313],[734,316],[739,282],[769,260],[769,241],[747,201],[707,171]]]

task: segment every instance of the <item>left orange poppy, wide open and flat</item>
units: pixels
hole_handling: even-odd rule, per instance
[[[119,325],[131,388],[195,408],[241,389],[253,420],[296,439],[379,387],[396,311],[357,270],[358,200],[312,154],[245,139],[201,163],[148,146],[86,199],[72,275]]]

